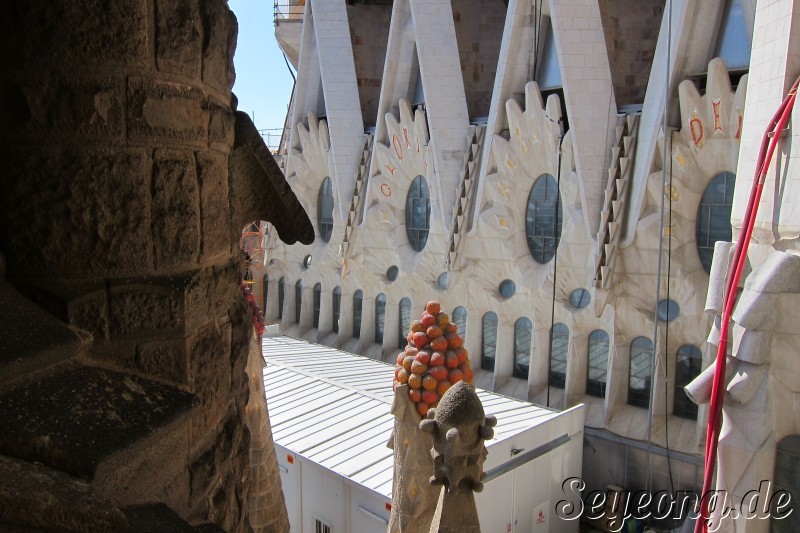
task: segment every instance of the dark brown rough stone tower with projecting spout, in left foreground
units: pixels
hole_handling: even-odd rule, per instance
[[[0,526],[246,531],[258,489],[259,523],[288,531],[271,444],[250,483],[238,236],[313,232],[234,113],[236,19],[223,0],[2,13]]]

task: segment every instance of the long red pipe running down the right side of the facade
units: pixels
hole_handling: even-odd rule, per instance
[[[714,478],[714,465],[717,460],[717,447],[719,445],[719,432],[722,422],[722,402],[724,391],[725,363],[728,344],[728,329],[730,326],[733,305],[736,300],[736,288],[739,286],[745,261],[747,260],[747,249],[755,227],[756,215],[758,214],[758,203],[764,189],[767,169],[775,153],[780,140],[780,133],[789,121],[789,117],[794,107],[797,97],[797,87],[800,85],[800,77],[794,82],[792,88],[781,102],[780,107],[770,120],[767,130],[761,140],[761,148],[756,163],[756,173],[753,186],[750,190],[750,197],[745,209],[744,219],[742,220],[743,234],[736,242],[733,261],[731,262],[728,273],[728,280],[725,284],[725,306],[720,323],[720,339],[717,346],[717,361],[714,369],[714,382],[711,388],[711,407],[708,418],[708,430],[706,434],[706,457],[705,468],[703,471],[703,492],[700,500],[700,516],[695,523],[695,533],[707,533],[708,531],[708,494]],[[771,134],[771,135],[770,135]],[[767,148],[767,146],[769,146]]]

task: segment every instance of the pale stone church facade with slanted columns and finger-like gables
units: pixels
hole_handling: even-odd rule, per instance
[[[364,9],[377,10],[370,16],[360,16],[365,12],[358,2],[307,2],[285,168],[312,220],[320,184],[331,178],[333,236],[310,246],[277,243],[269,251],[268,322],[279,321],[288,335],[393,362],[403,298],[411,301],[412,319],[428,300],[439,300],[451,316],[463,306],[479,386],[556,408],[584,403],[587,427],[598,430],[603,450],[624,449],[610,457],[587,451],[587,481],[629,488],[651,482],[657,490],[670,489],[672,477],[675,489],[699,489],[707,411],[700,406],[696,418],[676,416],[676,396],[683,393],[675,380],[680,348],[699,350],[703,368],[716,354],[706,342],[713,309],[706,310],[709,274],[698,252],[698,217],[710,211],[700,204],[712,180],[735,175],[736,238],[764,125],[800,73],[800,0],[737,2],[742,31],[735,36],[751,50],[750,64],[731,69],[726,50],[718,49],[720,35],[735,31],[723,24],[729,3],[683,0],[665,7],[631,1],[624,19],[616,12],[612,17],[608,3],[599,0],[364,2]],[[383,18],[375,15],[380,10]],[[363,42],[364,36],[375,38],[370,21],[387,17],[390,26],[381,34],[388,37],[370,50]],[[542,91],[537,69],[548,54],[542,44],[548,28],[562,85]],[[632,37],[641,28],[652,29],[650,41]],[[715,52],[723,59],[714,59]],[[381,65],[381,55],[382,70],[369,66]],[[367,103],[361,80],[372,77],[380,79],[378,112],[364,116],[375,106]],[[626,80],[628,87],[621,85]],[[796,107],[794,123],[798,119]],[[796,255],[798,249],[795,130],[779,150],[778,170],[768,175],[751,247],[754,269],[775,250]],[[546,174],[558,183],[562,225],[556,256],[541,263],[529,248],[526,211],[534,184]],[[425,179],[430,198],[429,234],[419,252],[406,228],[407,196],[417,176]],[[305,268],[308,255],[312,262]],[[395,280],[388,275],[392,266]],[[442,277],[446,288],[438,283]],[[513,296],[500,294],[503,280],[514,282]],[[589,305],[574,305],[576,289],[587,291]],[[359,290],[360,335],[354,337]],[[302,295],[299,321],[296,294]],[[386,301],[384,335],[375,342],[380,294]],[[679,306],[677,317],[657,321],[657,300],[668,297]],[[781,305],[796,313],[797,301],[787,298],[794,303]],[[498,319],[496,355],[493,370],[480,370],[488,312]],[[532,324],[526,379],[515,372],[515,324],[521,318]],[[549,373],[553,324],[569,332],[566,375],[557,385]],[[596,347],[590,339],[597,330],[608,339],[600,395],[587,393],[590,345]],[[764,390],[780,400],[765,399],[764,409],[773,409],[769,401],[798,404],[800,381],[781,378],[800,368],[790,333],[772,337],[773,370]],[[639,383],[631,377],[631,346],[639,337],[657,343],[646,380],[650,409],[646,398],[637,404],[630,392]],[[634,366],[641,362],[633,358]],[[792,412],[791,422],[774,418],[759,426],[769,442],[745,455],[768,455],[744,481],[731,481],[730,490],[758,488],[747,483],[771,477],[775,444],[800,433],[797,409]],[[617,444],[607,444],[612,441]],[[647,473],[640,463],[645,447],[658,450]],[[665,448],[673,453],[673,472]],[[721,448],[721,465],[731,460],[726,453]],[[729,478],[722,478],[724,485]],[[748,523],[746,530],[764,523]]]

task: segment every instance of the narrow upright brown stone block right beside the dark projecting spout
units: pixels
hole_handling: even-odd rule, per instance
[[[227,258],[231,254],[232,233],[227,158],[221,154],[198,152],[197,177],[200,183],[203,259]]]

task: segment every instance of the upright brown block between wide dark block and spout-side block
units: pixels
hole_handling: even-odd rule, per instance
[[[192,152],[156,151],[152,216],[156,268],[194,266],[200,251],[200,191]]]

